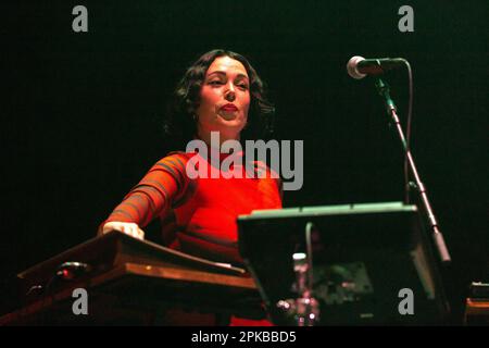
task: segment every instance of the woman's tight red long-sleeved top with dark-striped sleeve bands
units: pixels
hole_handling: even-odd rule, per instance
[[[228,154],[217,157],[222,164]],[[233,156],[236,158],[244,163],[242,153]],[[190,159],[208,165],[208,178],[191,179],[187,175]],[[159,216],[165,245],[214,261],[242,263],[237,248],[237,216],[281,208],[281,186],[262,162],[252,163],[255,174],[266,172],[261,178],[246,177],[244,165],[236,160],[230,169],[241,172],[242,178],[224,178],[223,169],[218,169],[218,178],[212,178],[211,170],[217,166],[212,167],[211,160],[199,153],[172,152],[149,170],[103,224],[133,222],[143,228]]]

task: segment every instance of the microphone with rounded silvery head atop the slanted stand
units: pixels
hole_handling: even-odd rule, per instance
[[[380,75],[385,72],[404,64],[403,58],[374,58],[365,59],[360,55],[352,57],[347,64],[348,74],[355,78],[364,78],[366,75]]]

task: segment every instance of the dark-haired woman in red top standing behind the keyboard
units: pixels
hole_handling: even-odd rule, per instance
[[[218,132],[222,145],[263,138],[271,130],[274,109],[264,98],[263,83],[251,64],[235,52],[204,53],[187,70],[174,99],[165,130],[180,141],[203,140],[206,152],[217,151],[221,161],[229,154],[213,147],[211,132]],[[202,154],[172,152],[158,161],[102,223],[100,233],[116,229],[143,238],[141,228],[160,217],[165,245],[241,264],[236,217],[256,209],[281,208],[280,183],[272,175],[190,179],[186,166],[193,157]],[[254,164],[263,167],[263,163]]]

